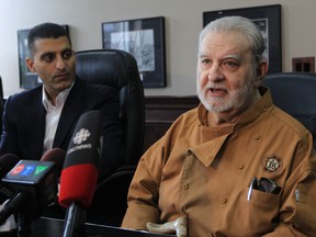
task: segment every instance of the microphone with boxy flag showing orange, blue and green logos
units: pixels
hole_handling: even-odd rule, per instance
[[[18,232],[27,234],[31,232],[31,222],[38,218],[48,205],[56,203],[57,167],[63,166],[60,154],[58,148],[48,150],[42,158],[44,161],[42,159],[41,161],[21,160],[2,179],[7,187],[15,191],[15,194],[0,211],[0,223],[5,222],[11,214],[18,214]]]

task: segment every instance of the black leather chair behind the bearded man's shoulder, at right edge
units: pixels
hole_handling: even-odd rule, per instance
[[[270,74],[263,79],[263,86],[270,88],[276,106],[311,131],[316,147],[316,74]]]

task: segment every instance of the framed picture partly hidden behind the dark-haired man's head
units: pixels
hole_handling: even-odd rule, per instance
[[[63,25],[69,34],[69,26]],[[18,31],[18,49],[19,49],[19,70],[20,70],[20,88],[32,89],[42,84],[37,74],[29,70],[26,65],[26,57],[30,56],[27,48],[27,37],[31,29]]]

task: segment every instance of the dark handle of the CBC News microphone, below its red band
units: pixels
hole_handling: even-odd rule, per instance
[[[87,212],[77,203],[71,203],[67,211],[63,237],[86,237],[84,223]]]

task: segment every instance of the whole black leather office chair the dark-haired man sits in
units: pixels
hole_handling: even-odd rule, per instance
[[[127,191],[143,154],[144,90],[135,58],[123,50],[78,52],[77,75],[91,83],[111,86],[120,97],[124,135],[124,165],[97,187],[88,222],[120,226],[127,207]]]

